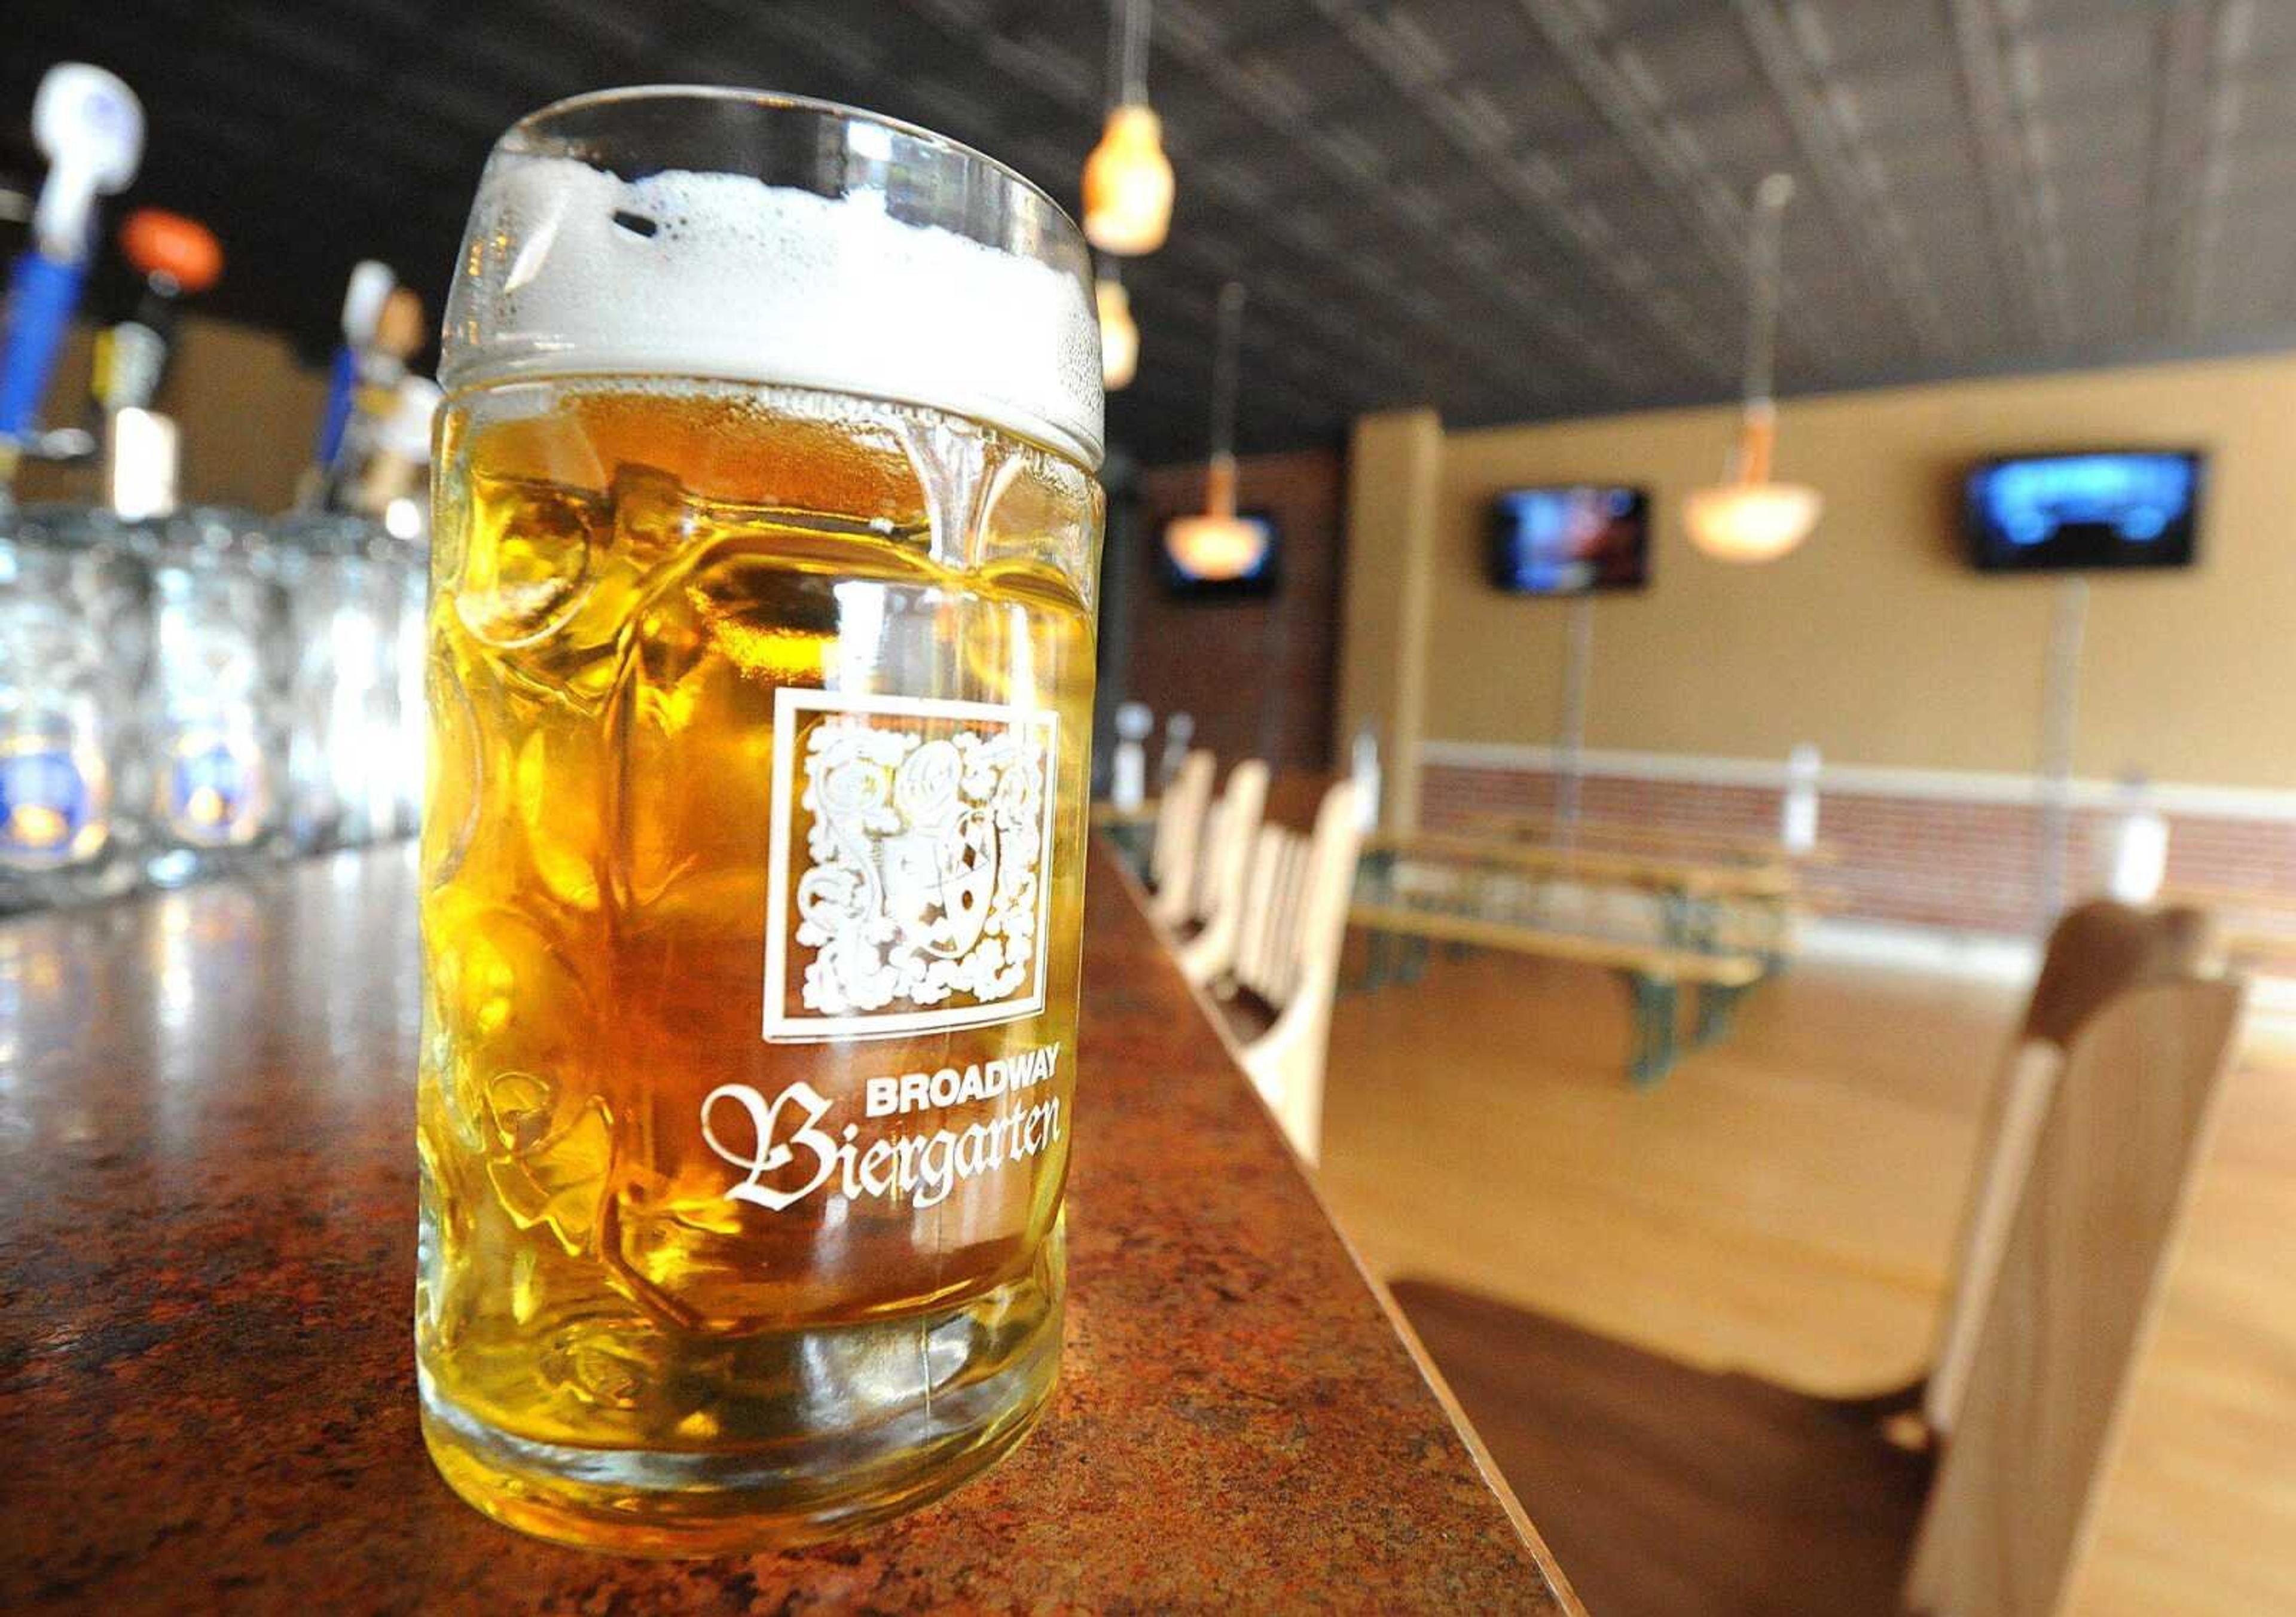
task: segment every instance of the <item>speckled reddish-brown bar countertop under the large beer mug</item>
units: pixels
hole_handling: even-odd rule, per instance
[[[1093,871],[1061,1387],[813,1550],[631,1562],[416,1433],[404,850],[0,921],[0,1608],[1577,1610]]]

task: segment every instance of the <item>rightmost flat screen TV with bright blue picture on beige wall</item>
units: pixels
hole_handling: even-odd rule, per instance
[[[2190,450],[1981,462],[1963,492],[1970,560],[1984,572],[2190,567],[2204,471]]]

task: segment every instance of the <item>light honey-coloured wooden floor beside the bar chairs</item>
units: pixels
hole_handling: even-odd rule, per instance
[[[1874,1390],[1926,1357],[2018,1004],[2009,985],[1805,962],[1750,999],[1731,1043],[1637,1093],[1609,976],[1437,958],[1424,983],[1341,999],[1325,1192],[1378,1275],[1711,1369]],[[2252,1036],[2232,1080],[2073,1610],[2296,1612],[2285,1040]]]

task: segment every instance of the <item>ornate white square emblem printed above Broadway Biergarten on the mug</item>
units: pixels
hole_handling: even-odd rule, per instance
[[[1056,737],[1026,707],[774,694],[769,1040],[1045,1008]]]

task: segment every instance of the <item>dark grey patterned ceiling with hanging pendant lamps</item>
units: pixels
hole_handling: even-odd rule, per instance
[[[436,308],[487,145],[556,96],[836,96],[1075,204],[1104,41],[1093,0],[7,0],[0,108],[21,163],[48,62],[129,78],[133,198],[218,227],[220,312],[321,351],[356,257]],[[1148,462],[1203,450],[1226,276],[1244,448],[1724,397],[1773,168],[1786,390],[2296,326],[2289,0],[1159,0],[1150,92],[1180,204],[1109,404]]]

